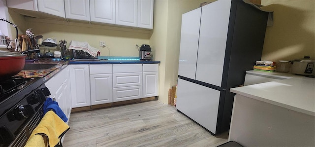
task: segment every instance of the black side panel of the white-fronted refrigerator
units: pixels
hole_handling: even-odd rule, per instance
[[[232,0],[222,79],[226,93],[224,108],[219,107],[223,109],[222,123],[218,126],[221,131],[230,126],[235,95],[229,92],[230,88],[244,84],[245,71],[252,70],[255,61],[261,60],[267,19],[268,12],[243,0]]]

